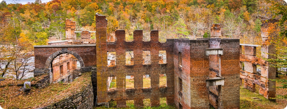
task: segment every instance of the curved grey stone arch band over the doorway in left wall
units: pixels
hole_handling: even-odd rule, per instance
[[[82,67],[85,67],[84,61],[83,61],[82,57],[81,57],[79,54],[77,54],[77,53],[75,53],[75,52],[73,52],[73,51],[68,50],[68,48],[62,48],[62,50],[57,51],[57,52],[53,53],[52,55],[50,55],[50,56],[48,57],[48,59],[46,60],[46,63],[45,63],[45,68],[46,68],[46,69],[49,69],[49,67],[51,66],[52,61],[53,61],[58,55],[65,54],[65,53],[74,55],[74,56],[79,60],[80,65],[81,65],[81,68],[82,68]]]

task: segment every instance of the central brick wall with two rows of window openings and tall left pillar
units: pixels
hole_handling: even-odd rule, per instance
[[[173,42],[158,42],[158,31],[155,30],[150,33],[150,42],[142,41],[142,30],[134,31],[133,42],[125,42],[124,30],[115,32],[116,42],[107,42],[106,25],[105,16],[96,14],[97,63],[100,63],[97,64],[97,103],[108,102],[113,99],[117,101],[117,107],[125,107],[126,100],[134,100],[136,107],[143,107],[143,100],[151,99],[151,106],[159,106],[160,98],[167,97],[167,104],[172,104],[174,102],[173,49],[170,49],[170,46],[173,45]],[[166,64],[159,64],[159,50],[166,50],[167,58],[170,58],[167,59]],[[113,67],[107,66],[107,51],[116,52],[116,65]],[[125,65],[126,51],[133,51],[134,65]],[[150,65],[142,64],[143,51],[150,51]],[[159,87],[159,74],[166,74],[167,87]],[[134,89],[127,90],[125,89],[125,77],[129,75],[134,76]],[[150,75],[150,89],[143,89],[143,75]],[[117,77],[117,89],[115,91],[107,90],[107,79],[109,76]]]

